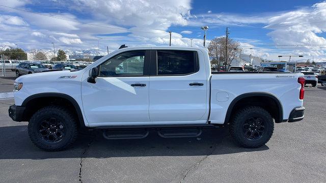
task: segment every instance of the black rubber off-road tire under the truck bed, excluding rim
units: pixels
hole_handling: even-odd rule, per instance
[[[263,120],[264,133],[259,139],[248,139],[245,132],[243,132],[243,125],[249,118],[254,116]],[[247,106],[238,110],[230,122],[230,135],[237,144],[246,148],[256,148],[266,144],[273,135],[273,131],[273,118],[265,109],[258,106]]]

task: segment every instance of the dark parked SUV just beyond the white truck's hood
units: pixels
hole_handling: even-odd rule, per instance
[[[19,77],[21,75],[25,74],[32,74],[32,73],[38,73],[42,71],[49,70],[42,64],[36,64],[36,63],[21,63],[16,67],[16,77]]]

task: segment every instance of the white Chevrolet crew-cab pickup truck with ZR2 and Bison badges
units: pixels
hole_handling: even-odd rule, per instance
[[[235,142],[254,148],[274,123],[304,118],[304,84],[301,73],[211,72],[202,48],[122,48],[83,70],[18,77],[9,116],[29,121],[32,142],[48,151],[65,149],[82,129],[169,138],[226,124]]]

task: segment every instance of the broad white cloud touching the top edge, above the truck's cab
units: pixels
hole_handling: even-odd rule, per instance
[[[186,25],[191,0],[136,1],[136,0],[75,0],[69,7],[120,25],[151,27],[166,30],[172,24]]]

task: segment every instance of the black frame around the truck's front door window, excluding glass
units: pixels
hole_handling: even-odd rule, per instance
[[[139,50],[127,50],[124,52],[119,52],[113,56],[111,56],[110,58],[104,60],[103,62],[101,62],[98,66],[98,72],[100,72],[100,66],[102,64],[104,64],[107,60],[122,54],[122,53],[126,53],[126,52],[131,52],[131,51],[145,51],[145,59],[144,59],[144,70],[143,70],[143,75],[141,76],[100,76],[99,73],[97,74],[97,77],[101,77],[101,78],[106,78],[106,77],[148,77],[149,76],[149,68],[150,68],[150,60],[151,60],[151,50],[150,49],[139,49]]]

